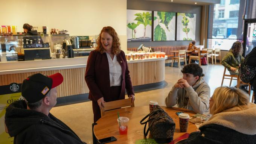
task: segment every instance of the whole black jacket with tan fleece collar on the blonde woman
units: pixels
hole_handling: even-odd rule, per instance
[[[212,115],[184,144],[256,144],[256,105],[237,106]]]

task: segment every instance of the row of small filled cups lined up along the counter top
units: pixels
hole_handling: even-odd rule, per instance
[[[135,59],[149,59],[149,58],[164,58],[165,57],[165,52],[153,52],[153,53],[129,53],[125,55],[126,60],[130,61],[135,60]]]

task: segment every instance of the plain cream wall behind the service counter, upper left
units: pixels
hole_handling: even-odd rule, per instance
[[[98,35],[112,26],[126,50],[126,0],[5,0],[1,1],[0,25],[23,24],[49,30],[66,29],[70,35]]]

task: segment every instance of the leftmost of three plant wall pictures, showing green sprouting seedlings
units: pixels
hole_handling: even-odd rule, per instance
[[[127,9],[127,41],[151,41],[152,11]]]

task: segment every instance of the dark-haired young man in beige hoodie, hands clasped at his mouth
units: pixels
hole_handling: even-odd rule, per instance
[[[188,64],[181,72],[183,77],[174,84],[165,99],[167,107],[177,104],[178,108],[203,114],[209,112],[210,87],[204,81],[203,69],[198,64]]]

